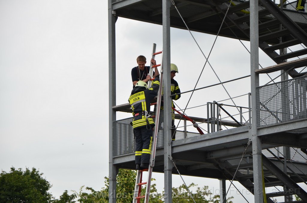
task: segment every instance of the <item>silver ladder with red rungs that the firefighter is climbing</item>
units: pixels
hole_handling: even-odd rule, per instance
[[[153,64],[150,64],[150,77],[153,76],[153,68],[157,66],[161,66],[160,68],[160,88],[158,91],[158,97],[157,97],[157,108],[156,108],[156,117],[155,117],[155,128],[154,128],[154,135],[153,135],[153,144],[151,149],[151,155],[149,160],[149,167],[148,169],[138,170],[135,186],[134,186],[134,197],[133,197],[133,203],[139,203],[142,198],[145,198],[145,203],[148,203],[149,201],[149,193],[150,193],[150,183],[151,183],[151,175],[154,167],[154,161],[156,156],[156,147],[157,147],[157,135],[158,135],[158,123],[159,123],[159,117],[160,117],[160,106],[161,106],[161,94],[162,94],[162,86],[163,86],[163,53],[156,52],[156,44],[153,44],[153,50],[152,50],[152,59],[154,59],[155,55],[162,54],[161,56],[161,64],[153,66]],[[148,82],[148,88],[151,86],[151,81]],[[143,171],[148,171],[147,173],[147,182],[142,182],[142,175]],[[142,185],[146,184],[146,193],[145,195],[141,196],[141,190]]]

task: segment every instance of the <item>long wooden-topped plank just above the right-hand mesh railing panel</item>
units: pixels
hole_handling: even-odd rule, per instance
[[[302,66],[305,66],[306,64],[307,64],[307,57],[302,58],[302,59],[293,60],[293,61],[284,62],[284,63],[279,63],[274,66],[261,68],[261,69],[256,70],[255,73],[271,73],[275,71],[286,70],[292,67],[294,68],[302,67]]]

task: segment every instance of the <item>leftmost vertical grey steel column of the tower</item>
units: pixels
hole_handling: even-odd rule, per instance
[[[108,30],[109,30],[109,203],[116,203],[116,175],[117,169],[113,165],[113,121],[116,112],[112,106],[116,105],[116,77],[115,77],[115,21],[112,14],[112,0],[108,2]]]

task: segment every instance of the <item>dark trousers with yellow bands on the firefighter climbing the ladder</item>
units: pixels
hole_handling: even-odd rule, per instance
[[[149,163],[153,131],[146,126],[134,129],[135,135],[135,164]]]

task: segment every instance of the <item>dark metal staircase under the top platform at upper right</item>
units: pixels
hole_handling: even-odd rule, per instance
[[[213,1],[214,2],[214,1]],[[218,3],[220,2],[220,3]],[[215,2],[217,12],[226,14],[229,1]],[[236,2],[231,5],[227,13],[227,27],[239,28],[248,38],[250,37],[250,2]],[[292,78],[300,77],[307,72],[298,72],[295,70],[307,65],[307,26],[296,24],[286,15],[273,1],[259,0],[259,47],[278,65],[259,69],[257,73],[269,73],[279,70],[289,70]],[[307,22],[307,18],[302,17]],[[305,23],[306,23],[305,22]],[[278,51],[291,46],[300,45],[294,52]],[[295,58],[299,57],[299,58]],[[295,59],[293,59],[295,58]],[[287,60],[289,60],[287,62]]]

